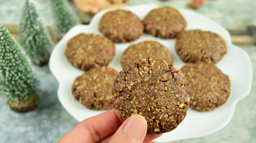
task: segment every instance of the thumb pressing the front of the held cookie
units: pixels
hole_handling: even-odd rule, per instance
[[[147,134],[147,121],[139,114],[126,119],[109,143],[142,143]]]

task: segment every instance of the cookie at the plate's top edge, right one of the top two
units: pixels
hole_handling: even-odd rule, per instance
[[[143,20],[145,32],[162,39],[175,38],[184,31],[186,21],[181,13],[171,7],[151,10]]]

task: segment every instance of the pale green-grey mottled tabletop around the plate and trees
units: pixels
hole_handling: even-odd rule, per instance
[[[171,0],[162,2],[159,0],[130,0],[130,5],[142,3],[155,3],[168,5],[175,8],[187,8],[186,3],[190,0]],[[18,2],[18,3],[17,3]],[[20,4],[24,0],[0,0],[0,23],[17,24],[19,19]],[[12,3],[12,5],[11,5]],[[48,11],[47,2],[41,3],[40,11]],[[8,8],[8,6],[11,7]],[[7,7],[6,7],[7,6]],[[206,0],[205,5],[199,12],[217,23],[224,26],[234,36],[239,35],[255,39],[256,26],[256,1],[255,0]],[[46,14],[42,16],[47,17]],[[9,17],[9,18],[8,18]],[[45,20],[51,21],[51,19]],[[251,28],[254,27],[254,28]],[[238,31],[238,33],[236,32]],[[239,38],[236,37],[236,38]],[[256,43],[240,43],[250,56],[253,65],[253,75],[256,74]],[[39,97],[38,108],[28,113],[16,113],[9,109],[3,97],[0,97],[0,142],[3,143],[45,143],[56,142],[60,137],[70,131],[76,121],[59,103],[57,98],[58,82],[53,77],[48,65],[43,67],[34,66],[42,95]],[[256,78],[253,76],[253,84],[250,94],[237,103],[231,121],[221,130],[193,140],[177,141],[177,143],[233,143],[256,142]]]

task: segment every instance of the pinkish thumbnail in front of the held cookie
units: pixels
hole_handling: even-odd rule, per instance
[[[123,133],[131,135],[136,140],[139,140],[147,130],[147,121],[139,114],[134,114],[127,119],[124,125]]]

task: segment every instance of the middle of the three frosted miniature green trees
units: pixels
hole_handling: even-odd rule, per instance
[[[18,31],[18,41],[32,63],[40,66],[47,64],[53,48],[52,39],[29,0],[23,8]]]

